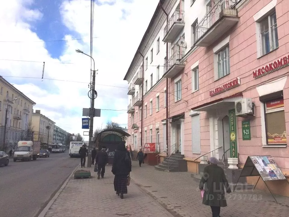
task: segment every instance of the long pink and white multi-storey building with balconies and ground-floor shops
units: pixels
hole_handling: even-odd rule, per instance
[[[124,78],[132,147],[179,150],[188,171],[208,152],[203,163],[236,171],[271,155],[288,174],[288,11],[286,0],[160,1]]]

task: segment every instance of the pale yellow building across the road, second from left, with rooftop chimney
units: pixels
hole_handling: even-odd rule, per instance
[[[48,144],[53,143],[53,133],[55,122],[51,121],[40,110],[35,110],[32,114],[32,127],[34,131],[34,140],[40,141],[42,148],[48,148]]]

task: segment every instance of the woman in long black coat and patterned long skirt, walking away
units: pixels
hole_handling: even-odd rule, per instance
[[[113,181],[114,190],[117,192],[117,195],[120,195],[120,198],[123,199],[123,194],[127,194],[127,177],[132,171],[131,158],[124,144],[120,144],[117,147],[111,171],[113,175],[115,175]]]

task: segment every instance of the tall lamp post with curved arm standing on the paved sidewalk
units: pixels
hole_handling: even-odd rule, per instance
[[[77,53],[82,53],[86,56],[83,51],[76,49]],[[87,167],[91,167],[91,151],[92,151],[92,136],[93,136],[93,118],[94,118],[94,96],[95,96],[95,62],[94,59],[89,56],[93,60],[93,71],[92,71],[92,85],[91,85],[91,102],[89,108],[89,117],[90,117],[90,124],[89,124],[89,143],[88,143],[88,157],[87,157]]]

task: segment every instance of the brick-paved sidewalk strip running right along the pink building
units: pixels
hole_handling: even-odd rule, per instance
[[[161,172],[133,162],[131,178],[151,194],[176,217],[211,217],[210,207],[202,204],[199,183],[189,172]],[[233,190],[233,189],[232,189]],[[222,217],[284,217],[289,213],[289,198],[261,191],[234,192],[226,194],[228,206],[221,208]]]

